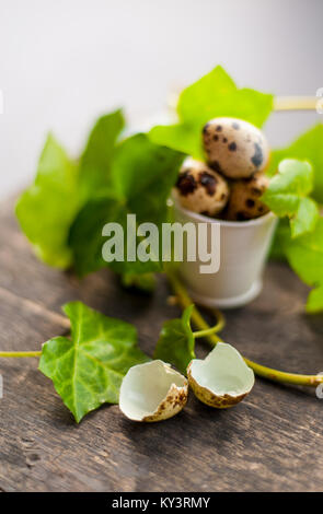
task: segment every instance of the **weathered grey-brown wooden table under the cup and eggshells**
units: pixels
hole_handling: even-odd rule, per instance
[[[162,323],[180,314],[161,279],[152,299],[122,290],[107,270],[79,282],[36,260],[12,201],[0,208],[0,348],[38,350],[67,332],[71,300],[134,323],[152,352]],[[41,215],[41,214],[39,214]],[[268,266],[261,296],[227,313],[226,341],[291,372],[323,371],[323,316],[307,316],[307,288]],[[200,346],[204,355],[207,347]],[[77,425],[36,359],[0,360],[3,491],[318,491],[323,489],[323,400],[313,389],[257,379],[245,401],[214,410],[191,395],[172,420],[137,424],[104,406]]]

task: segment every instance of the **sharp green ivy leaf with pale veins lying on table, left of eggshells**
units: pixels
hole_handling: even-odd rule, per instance
[[[71,338],[45,342],[39,370],[51,378],[64,404],[79,422],[102,404],[117,404],[123,377],[149,359],[137,346],[135,327],[104,316],[81,302],[65,305]]]

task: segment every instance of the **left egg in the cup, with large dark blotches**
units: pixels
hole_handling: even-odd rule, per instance
[[[175,191],[184,209],[209,217],[222,211],[229,199],[227,180],[192,157],[185,160],[180,171]]]

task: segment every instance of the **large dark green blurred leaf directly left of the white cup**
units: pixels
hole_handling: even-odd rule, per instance
[[[96,198],[80,211],[70,232],[76,270],[80,276],[107,266],[102,258],[106,238],[102,229],[106,223],[118,223],[124,229],[124,260],[108,266],[119,273],[147,273],[161,270],[160,256],[155,261],[141,262],[127,259],[127,214],[136,214],[137,224],[152,222],[158,226],[165,221],[166,199],[176,180],[183,154],[153,144],[143,133],[122,142],[112,167],[115,198]],[[137,227],[135,227],[137,229]],[[135,250],[142,237],[131,243]]]

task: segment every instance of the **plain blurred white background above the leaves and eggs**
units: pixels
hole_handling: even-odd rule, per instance
[[[28,183],[48,130],[74,155],[97,115],[138,124],[217,63],[241,86],[315,95],[322,23],[322,0],[0,0],[0,197]],[[270,142],[315,117],[275,115]]]

